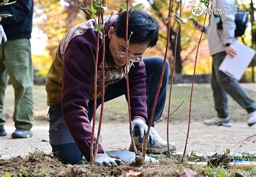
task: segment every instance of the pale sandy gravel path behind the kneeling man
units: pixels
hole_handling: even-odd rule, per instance
[[[34,136],[26,139],[12,139],[11,133],[15,130],[12,120],[8,120],[5,129],[6,137],[0,137],[0,158],[26,155],[35,148],[46,153],[51,152],[48,137],[48,123],[39,122],[32,128]],[[157,124],[157,131],[166,137],[166,122]],[[177,144],[178,150],[183,151],[186,140],[187,123],[172,123],[170,126],[170,138]],[[233,123],[231,128],[222,126],[206,126],[201,122],[191,124],[190,137],[187,151],[196,152],[223,152],[226,148],[236,144],[242,138],[256,132],[256,125],[248,127],[246,122]],[[124,150],[129,147],[129,123],[103,123],[102,145],[104,150]],[[256,137],[246,141],[241,152],[256,150]]]

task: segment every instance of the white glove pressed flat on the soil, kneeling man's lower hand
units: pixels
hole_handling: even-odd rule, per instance
[[[95,162],[98,165],[106,165],[109,167],[118,166],[123,163],[121,160],[109,157],[105,154],[98,154]]]

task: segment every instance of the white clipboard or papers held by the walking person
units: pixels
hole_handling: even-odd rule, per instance
[[[237,51],[237,55],[235,55],[233,58],[226,55],[219,67],[219,70],[239,81],[244,74],[245,69],[252,61],[256,51],[244,44],[239,43],[238,41],[235,41],[233,47],[235,51]]]

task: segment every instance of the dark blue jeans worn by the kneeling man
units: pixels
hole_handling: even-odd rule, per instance
[[[164,59],[160,57],[147,57],[144,58],[146,66],[146,94],[147,94],[147,124],[152,112],[154,98],[157,93],[158,82],[161,75],[161,69],[163,67]],[[169,79],[169,63],[166,62],[165,72],[163,77],[162,87],[160,89],[156,111],[154,112],[153,123],[156,122],[162,115],[165,105],[166,90]],[[114,98],[126,94],[126,80],[122,79],[116,83],[112,83],[107,86],[105,90],[105,102]],[[102,103],[102,98],[97,100],[97,108]],[[79,164],[83,158],[83,154],[78,149],[75,141],[73,140],[68,127],[62,116],[62,110],[60,105],[54,105],[49,109],[50,114],[50,144],[52,146],[52,152],[55,157],[59,158],[64,164]],[[93,100],[89,102],[88,117],[91,121],[93,117]],[[55,131],[58,131],[56,133]],[[52,133],[55,132],[55,133]]]

